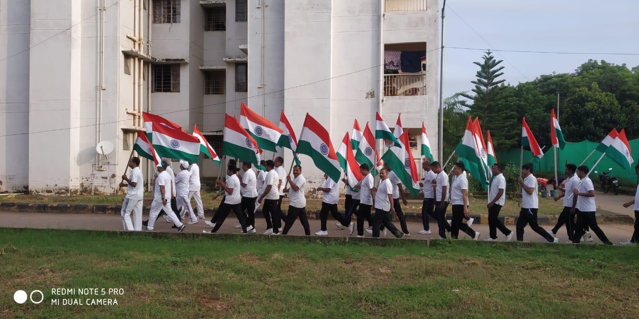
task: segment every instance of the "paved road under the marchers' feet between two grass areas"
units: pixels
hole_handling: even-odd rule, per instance
[[[79,229],[79,230],[123,230],[122,227],[122,219],[119,215],[112,214],[59,214],[59,213],[39,213],[39,212],[0,212],[0,227],[10,227],[10,228],[56,228],[56,229]],[[144,216],[146,219],[147,216]],[[210,219],[211,216],[207,216],[207,219]],[[311,225],[311,235],[314,235],[320,228],[319,220],[311,219],[309,220]],[[234,233],[239,232],[240,230],[235,228],[237,225],[237,219],[227,218],[222,228],[220,228],[220,233]],[[258,234],[261,234],[265,231],[265,221],[263,218],[256,219],[256,227],[258,229]],[[335,221],[332,219],[328,220],[327,224],[328,235],[334,237],[346,237],[348,236],[348,230],[338,230],[335,226]],[[395,225],[399,228],[399,223],[395,223]],[[166,223],[164,218],[160,218],[158,223],[155,225],[156,232],[175,232],[176,230],[171,228],[171,224]],[[514,225],[507,225],[508,228],[514,231]],[[144,228],[144,227],[142,227]],[[544,227],[547,230],[550,230],[550,226]],[[615,244],[619,244],[620,241],[626,241],[629,237],[631,237],[633,228],[631,225],[617,225],[617,224],[603,224],[601,225],[602,230],[608,236],[608,238],[614,242]],[[204,225],[203,221],[200,221],[194,225],[187,225],[185,228],[185,232],[194,232],[201,233],[202,230],[210,230],[211,228]],[[436,238],[438,237],[436,233],[436,223],[431,221],[431,230],[433,230],[434,234],[431,235],[420,235],[417,234],[419,230],[422,229],[421,223],[408,223],[408,230],[411,233],[410,239],[427,239],[427,238]],[[481,233],[480,240],[488,238],[488,225],[475,225],[473,229],[477,232]],[[296,221],[293,228],[291,228],[291,235],[304,235],[304,230],[302,225],[300,225],[299,221]],[[353,235],[357,235],[356,233]],[[370,235],[365,232],[366,237]],[[593,234],[594,235],[594,234]],[[392,235],[388,234],[388,237],[391,238]],[[462,235],[460,234],[460,237]],[[464,235],[464,237],[466,237]],[[499,240],[504,239],[504,235],[498,233]],[[560,242],[564,243],[567,241],[566,230],[562,228],[559,231]],[[467,238],[467,237],[466,237]],[[530,227],[525,229],[524,235],[525,241],[534,241],[534,242],[544,242],[545,239],[543,237],[537,235],[533,232]],[[514,238],[513,238],[514,241]],[[599,239],[594,239],[594,243],[601,243]],[[591,244],[591,243],[589,243]]]

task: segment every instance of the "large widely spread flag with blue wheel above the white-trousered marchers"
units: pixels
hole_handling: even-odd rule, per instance
[[[185,159],[191,162],[196,162],[199,158],[199,140],[185,131],[153,122],[151,136],[153,148],[163,158]]]

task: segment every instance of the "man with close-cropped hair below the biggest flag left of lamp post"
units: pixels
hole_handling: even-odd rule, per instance
[[[397,230],[392,221],[391,214],[395,212],[393,207],[393,186],[389,180],[389,173],[386,168],[380,170],[380,186],[375,193],[373,207],[373,237],[380,237],[381,225],[384,225],[397,238],[404,237],[404,234]]]

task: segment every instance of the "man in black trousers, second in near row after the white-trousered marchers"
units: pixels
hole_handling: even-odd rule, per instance
[[[261,196],[258,199],[258,203],[264,202],[262,207],[262,213],[266,220],[266,232],[265,235],[279,235],[281,228],[281,219],[277,213],[277,202],[279,201],[279,192],[277,191],[277,181],[279,177],[277,172],[273,169],[275,163],[272,160],[268,160],[265,163],[266,177],[261,189]]]

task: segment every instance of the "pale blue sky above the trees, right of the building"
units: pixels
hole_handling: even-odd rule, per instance
[[[440,0],[440,10],[443,0]],[[447,0],[445,47],[639,54],[639,0]],[[473,31],[473,29],[476,31]],[[479,34],[479,35],[478,35]],[[482,38],[485,40],[482,40]],[[488,42],[488,43],[487,43]],[[445,48],[444,98],[473,88],[480,50]],[[639,65],[639,55],[495,52],[506,83],[572,73],[588,59]]]

